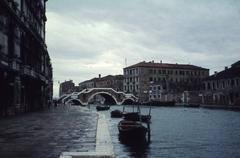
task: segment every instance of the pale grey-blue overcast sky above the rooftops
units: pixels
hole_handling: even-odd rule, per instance
[[[240,59],[239,0],[49,0],[47,45],[58,81],[122,74],[140,61],[220,71]]]

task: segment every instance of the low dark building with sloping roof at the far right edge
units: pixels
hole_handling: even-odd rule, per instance
[[[202,94],[203,104],[240,106],[240,61],[209,76]]]

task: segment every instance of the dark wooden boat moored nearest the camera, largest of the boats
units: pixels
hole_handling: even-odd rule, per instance
[[[119,136],[128,139],[146,139],[148,129],[137,121],[122,120],[118,123]]]

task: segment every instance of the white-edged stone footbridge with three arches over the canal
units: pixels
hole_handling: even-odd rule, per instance
[[[138,101],[138,98],[132,94],[117,92],[112,88],[91,88],[84,89],[81,92],[73,92],[59,98],[59,102],[67,104],[74,102],[81,105],[88,105],[96,95],[101,95],[109,105],[132,104]]]

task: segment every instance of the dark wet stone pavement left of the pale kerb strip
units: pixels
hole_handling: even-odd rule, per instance
[[[94,151],[97,114],[77,106],[0,120],[1,158],[58,158]]]

